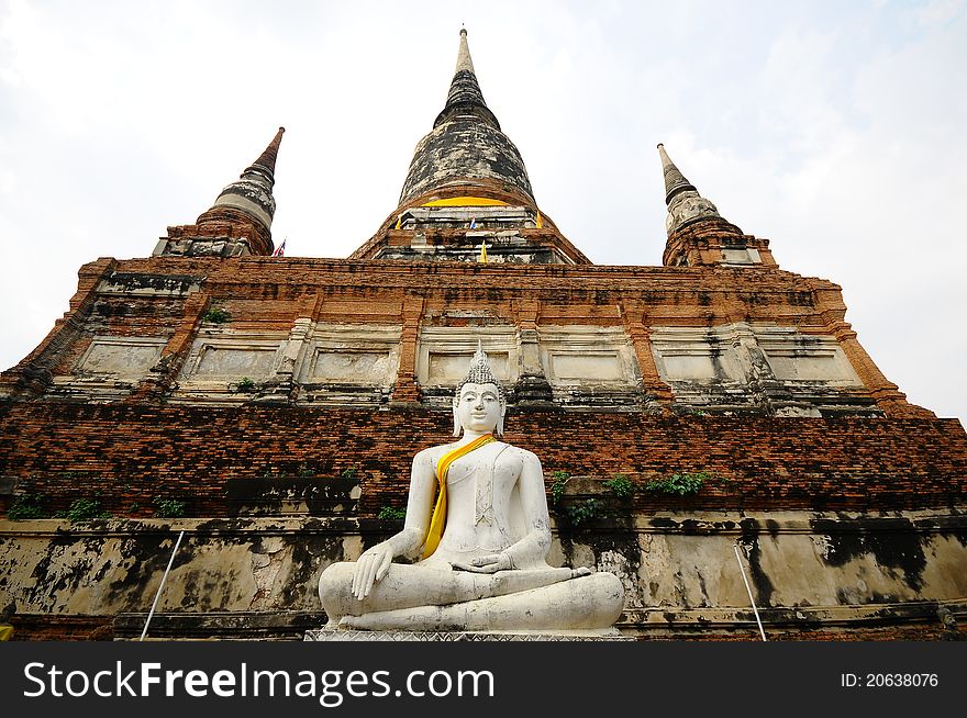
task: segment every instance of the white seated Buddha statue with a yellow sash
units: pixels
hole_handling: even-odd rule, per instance
[[[494,438],[505,411],[503,390],[478,348],[453,402],[459,438],[413,458],[403,530],[320,576],[327,628],[611,629],[624,606],[621,582],[611,573],[547,564],[544,473],[536,456]],[[420,549],[419,562],[393,563]]]

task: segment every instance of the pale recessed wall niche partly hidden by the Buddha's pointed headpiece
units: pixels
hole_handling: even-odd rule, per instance
[[[430,406],[449,406],[454,388],[467,375],[481,340],[497,379],[512,386],[520,377],[520,345],[513,326],[427,326],[416,346],[416,380]]]

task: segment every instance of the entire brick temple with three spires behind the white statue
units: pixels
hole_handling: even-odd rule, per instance
[[[149,257],[81,267],[0,375],[15,637],[138,633],[182,529],[155,635],[318,627],[320,573],[398,530],[478,340],[508,439],[543,461],[551,558],[621,576],[623,632],[757,637],[736,545],[774,637],[965,617],[967,434],[883,377],[836,284],[780,269],[662,145],[663,266],[609,267],[538,206],[465,31],[399,206],[349,258],[271,256],[281,139]]]

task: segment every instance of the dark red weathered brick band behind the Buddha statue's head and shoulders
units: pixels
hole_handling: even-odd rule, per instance
[[[358,471],[359,514],[405,505],[415,451],[445,440],[449,417],[422,410],[0,404],[0,472],[54,509],[97,495],[118,516],[149,516],[156,495],[191,516],[232,516],[230,481]],[[508,440],[554,471],[640,483],[708,471],[700,495],[638,494],[635,509],[900,511],[967,503],[967,437],[955,419],[654,417],[526,413]],[[235,485],[238,490],[238,484]],[[131,509],[137,504],[138,509]]]

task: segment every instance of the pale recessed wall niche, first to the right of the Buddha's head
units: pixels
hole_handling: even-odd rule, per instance
[[[537,336],[556,403],[630,410],[640,404],[641,371],[623,328],[542,326]]]

